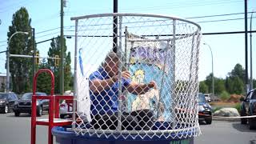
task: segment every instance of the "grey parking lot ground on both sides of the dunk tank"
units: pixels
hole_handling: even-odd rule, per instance
[[[44,114],[42,118],[47,118]],[[211,125],[201,123],[202,134],[194,138],[194,144],[256,144],[256,130],[249,130],[248,125],[239,121],[213,121]],[[14,113],[0,114],[0,143],[30,143],[30,115]],[[37,126],[37,144],[47,143],[47,127]],[[56,142],[54,142],[56,143]]]

